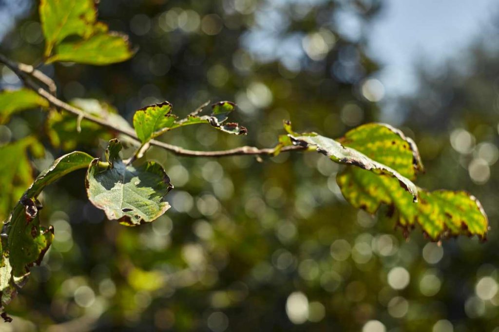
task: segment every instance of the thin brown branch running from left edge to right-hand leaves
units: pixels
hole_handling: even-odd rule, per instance
[[[84,111],[81,111],[63,101],[58,99],[55,96],[55,84],[54,82],[45,74],[42,72],[34,69],[30,65],[25,65],[21,63],[14,62],[12,60],[9,60],[6,58],[3,54],[0,54],[0,63],[3,63],[6,65],[8,68],[10,68],[24,83],[26,87],[29,89],[35,91],[38,95],[43,97],[48,101],[48,103],[58,109],[67,111],[78,118],[85,119],[94,123],[97,123],[103,127],[106,127],[112,131],[121,133],[123,135],[126,135],[130,137],[132,140],[140,143],[139,138],[135,134],[135,131],[130,130],[128,128],[118,128],[115,127],[113,124],[98,118],[96,116],[93,116],[91,114],[88,114]],[[43,84],[47,85],[49,88],[50,92],[46,91],[45,89],[37,86],[31,78],[35,78],[36,80],[42,82]],[[53,92],[53,94],[52,94]],[[188,156],[188,157],[227,157],[227,156],[236,156],[236,155],[273,155],[275,152],[275,148],[262,148],[259,149],[254,146],[241,146],[237,147],[234,149],[229,149],[229,150],[220,150],[220,151],[197,151],[197,150],[189,150],[189,149],[184,149],[180,146],[177,145],[172,145],[164,142],[160,142],[158,140],[150,140],[149,141],[150,145],[154,145],[157,147],[161,147],[165,150],[168,150],[170,152],[173,152],[177,155],[180,156]],[[304,148],[301,146],[284,146],[280,152],[289,152],[289,151],[296,151],[296,150],[303,150]]]

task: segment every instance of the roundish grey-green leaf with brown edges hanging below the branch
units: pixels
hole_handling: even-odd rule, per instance
[[[165,200],[173,188],[170,178],[153,161],[126,165],[120,150],[120,141],[112,139],[106,150],[109,166],[101,169],[98,158],[92,161],[85,181],[88,198],[109,220],[130,226],[154,221],[170,208]]]

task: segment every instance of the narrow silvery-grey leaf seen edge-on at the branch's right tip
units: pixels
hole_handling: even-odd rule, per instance
[[[386,176],[391,177],[412,195],[414,201],[417,200],[418,188],[416,185],[393,168],[369,158],[367,155],[358,150],[344,146],[334,139],[324,137],[313,132],[298,135],[292,132],[290,124],[286,129],[288,130],[288,136],[294,145],[314,149],[317,152],[328,156],[329,159],[338,164],[353,165],[370,171],[380,178]]]

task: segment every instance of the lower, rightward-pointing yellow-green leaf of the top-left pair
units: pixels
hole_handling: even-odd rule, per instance
[[[128,36],[111,31],[89,39],[63,42],[55,47],[55,54],[46,63],[62,61],[102,66],[126,61],[134,54]]]

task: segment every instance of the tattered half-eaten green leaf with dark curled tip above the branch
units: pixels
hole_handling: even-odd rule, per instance
[[[248,130],[238,123],[224,123],[235,108],[234,103],[219,102],[212,105],[211,115],[198,115],[202,111],[200,109],[184,119],[177,120],[177,116],[171,112],[172,105],[164,102],[147,106],[135,112],[133,125],[142,143],[146,143],[168,130],[198,123],[209,123],[214,128],[230,134],[246,135]]]

